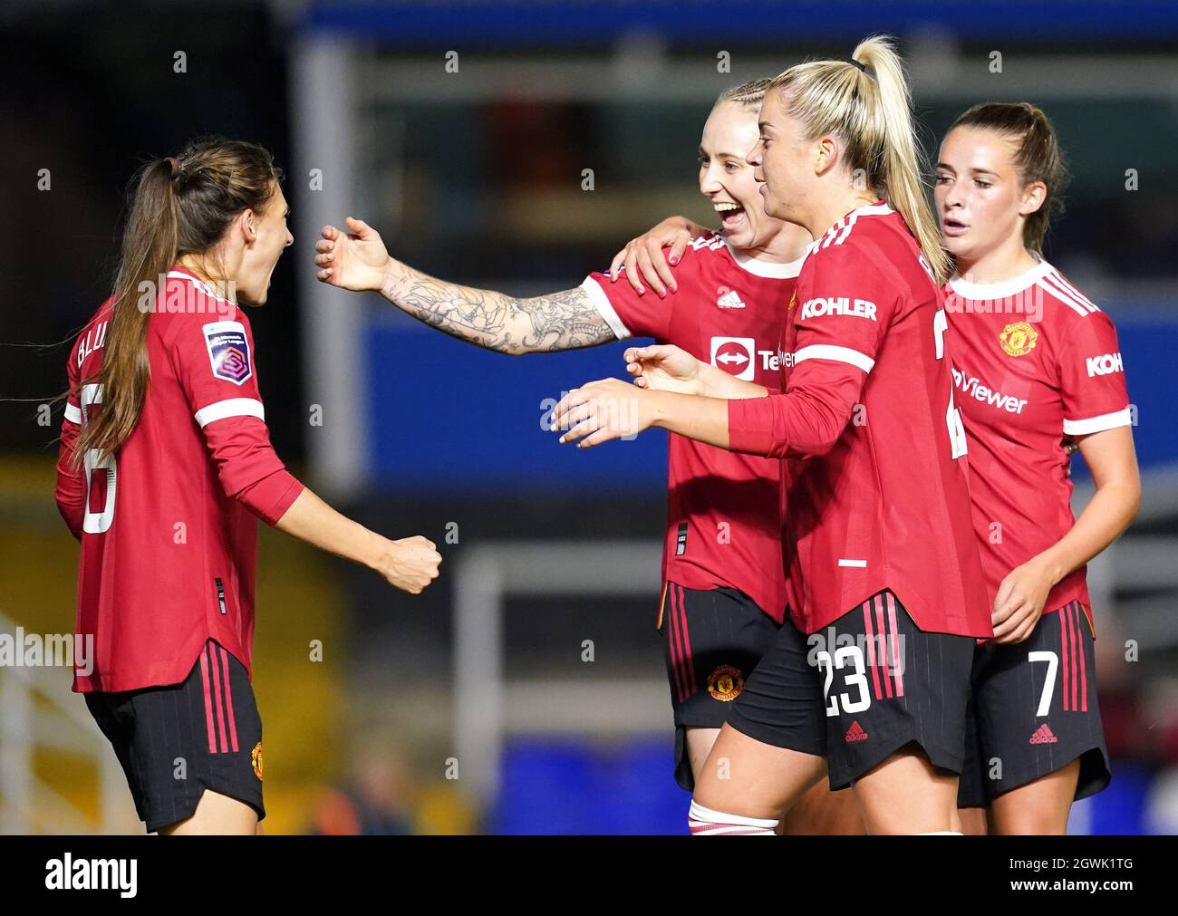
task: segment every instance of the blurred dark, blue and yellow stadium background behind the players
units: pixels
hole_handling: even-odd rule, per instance
[[[251,313],[278,452],[366,525],[424,533],[445,556],[409,598],[262,532],[267,830],[684,832],[654,630],[666,440],[583,454],[541,427],[545,398],[618,374],[621,346],[483,353],[318,286],[312,244],[355,214],[437,276],[568,288],[664,215],[709,221],[695,150],[721,89],[882,31],[902,39],[929,148],[966,106],[1025,99],[1070,154],[1047,254],[1118,324],[1145,478],[1139,520],[1090,573],[1114,779],[1072,830],[1178,832],[1172,2],[112,11],[0,11],[0,633],[72,630],[77,551],[52,498],[60,407],[48,426],[38,409],[105,296],[125,182],[193,134],[254,139],[287,170],[296,235]],[[1080,463],[1073,477],[1081,505]],[[139,829],[68,683],[65,669],[0,668],[0,832]]]

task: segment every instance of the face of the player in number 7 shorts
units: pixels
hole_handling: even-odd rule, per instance
[[[937,217],[945,248],[971,265],[1004,245],[1023,245],[1023,224],[1046,186],[1024,186],[1011,139],[984,127],[954,127],[937,162]]]

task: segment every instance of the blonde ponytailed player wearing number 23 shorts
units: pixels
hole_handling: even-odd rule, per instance
[[[785,391],[695,360],[669,373],[693,396],[590,383],[555,425],[578,446],[657,425],[792,459],[796,600],[704,764],[691,830],[772,832],[829,771],[869,832],[951,832],[974,640],[993,630],[958,460],[947,258],[901,61],[872,38],[851,61],[793,67],[760,120],[766,211],[815,239],[788,304]]]

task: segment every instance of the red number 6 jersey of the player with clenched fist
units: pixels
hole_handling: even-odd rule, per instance
[[[257,518],[273,524],[302,491],[270,445],[250,321],[183,268],[148,317],[151,380],[139,423],[113,456],[72,465],[101,386],[111,304],[70,354],[58,507],[81,540],[77,631],[94,669],[74,690],[176,684],[206,639],[250,669]]]

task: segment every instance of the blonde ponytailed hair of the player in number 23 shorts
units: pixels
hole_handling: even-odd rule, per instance
[[[949,259],[928,203],[926,157],[916,141],[904,62],[884,35],[863,39],[851,57],[799,64],[776,77],[772,88],[782,91],[786,109],[807,126],[809,138],[842,138],[852,174],[861,171],[868,188],[904,217],[942,283]]]

